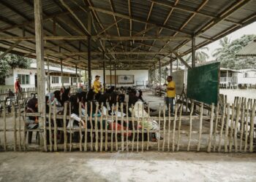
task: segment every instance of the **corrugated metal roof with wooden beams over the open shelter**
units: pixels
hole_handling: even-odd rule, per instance
[[[0,9],[0,51],[15,45],[12,53],[35,58],[33,1],[1,0]],[[165,66],[172,52],[191,52],[192,36],[204,47],[254,22],[255,9],[256,0],[43,0],[45,59],[86,68],[90,36],[91,68],[102,68],[102,50],[118,69]]]

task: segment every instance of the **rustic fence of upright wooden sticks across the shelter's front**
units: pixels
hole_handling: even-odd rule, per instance
[[[233,104],[224,103],[222,107],[211,105],[211,112],[208,115],[205,115],[203,103],[200,103],[198,115],[194,114],[194,102],[189,105],[189,115],[184,115],[183,103],[176,105],[174,116],[170,115],[170,111],[165,111],[166,106],[159,105],[158,116],[150,116],[148,107],[146,117],[136,117],[133,106],[129,115],[128,106],[124,103],[121,103],[121,106],[117,103],[116,111],[124,112],[126,116],[114,116],[114,108],[110,115],[107,112],[104,116],[92,116],[92,110],[87,111],[89,105],[91,106],[91,103],[86,103],[86,114],[83,116],[80,104],[79,117],[86,122],[85,127],[79,122],[78,128],[67,128],[68,122],[71,121],[69,103],[64,104],[64,114],[61,115],[56,114],[56,106],[50,106],[50,113],[46,116],[22,113],[20,107],[12,107],[12,117],[7,118],[4,114],[0,122],[0,126],[3,126],[3,129],[0,129],[0,136],[3,136],[0,140],[0,150],[255,151],[256,100],[236,98]],[[95,112],[97,111],[99,104]],[[38,129],[27,129],[24,120],[26,116],[42,117]],[[157,122],[157,129],[147,127],[153,120]],[[111,123],[111,127],[110,124],[105,124],[107,121]],[[120,130],[118,123],[121,124]],[[34,143],[31,146],[26,141],[26,132],[37,132],[40,144]],[[156,133],[161,135],[162,140],[151,141],[151,135]],[[77,140],[74,136],[77,136]]]

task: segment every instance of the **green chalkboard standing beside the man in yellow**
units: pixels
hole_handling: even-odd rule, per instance
[[[217,106],[219,95],[219,63],[188,70],[187,97]]]

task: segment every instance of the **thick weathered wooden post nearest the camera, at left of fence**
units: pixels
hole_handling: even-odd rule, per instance
[[[34,0],[34,24],[37,55],[37,100],[39,116],[39,129],[43,128],[42,118],[45,116],[45,64],[44,64],[44,41],[42,22],[42,1]],[[43,136],[40,133],[40,146],[42,146]]]

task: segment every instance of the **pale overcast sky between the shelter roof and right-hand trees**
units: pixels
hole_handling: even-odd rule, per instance
[[[240,28],[237,31],[234,31],[233,33],[230,33],[227,37],[230,39],[230,41],[233,41],[234,39],[238,39],[241,36],[247,35],[247,34],[256,34],[256,22],[246,25],[244,28]],[[215,49],[219,48],[219,40],[212,42],[211,44],[207,45],[208,47],[208,55],[209,60],[214,60],[214,57],[212,57],[212,53]],[[204,50],[205,51],[205,50]]]

